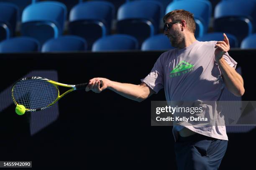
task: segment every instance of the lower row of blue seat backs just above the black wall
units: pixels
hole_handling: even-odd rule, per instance
[[[228,34],[227,34],[228,35]],[[222,33],[213,33],[205,37],[211,40],[214,36],[215,40],[222,40]],[[228,35],[229,36],[229,35]],[[217,38],[217,39],[216,39]],[[253,34],[241,43],[242,49],[256,48],[256,34]],[[198,39],[201,40],[201,39]],[[232,36],[229,36],[230,46],[234,46],[237,42]],[[141,46],[142,51],[149,50],[169,50],[173,47],[170,45],[169,39],[163,35],[154,35],[146,39]],[[66,35],[53,38],[44,43],[40,47],[40,43],[31,37],[15,37],[0,42],[0,53],[10,52],[70,52],[87,50],[87,42],[82,37],[75,35]],[[99,51],[121,51],[121,50],[138,50],[138,40],[131,35],[116,34],[102,37],[92,45],[92,52]]]

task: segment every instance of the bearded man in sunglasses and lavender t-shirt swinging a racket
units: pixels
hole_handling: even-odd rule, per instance
[[[234,95],[243,95],[243,79],[235,70],[237,62],[228,55],[230,46],[225,34],[223,41],[197,41],[193,14],[185,10],[167,13],[164,23],[164,34],[176,48],[161,54],[140,85],[98,77],[89,81],[86,91],[101,92],[108,88],[141,102],[164,88],[167,101],[217,101],[225,84]],[[221,115],[217,118],[220,122],[224,120]],[[225,125],[220,122],[200,128],[174,125],[178,169],[218,169],[228,144]]]

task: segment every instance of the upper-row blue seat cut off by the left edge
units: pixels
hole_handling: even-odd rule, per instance
[[[10,36],[15,33],[19,9],[13,3],[0,2],[0,23],[4,23],[10,30]]]

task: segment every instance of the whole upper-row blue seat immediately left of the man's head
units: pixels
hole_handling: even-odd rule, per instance
[[[159,32],[161,4],[152,0],[132,1],[118,9],[117,32],[136,37],[139,44]]]

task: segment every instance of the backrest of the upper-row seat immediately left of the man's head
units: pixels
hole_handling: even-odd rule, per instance
[[[152,0],[127,2],[118,9],[118,20],[146,19],[159,29],[161,18],[161,3]]]

